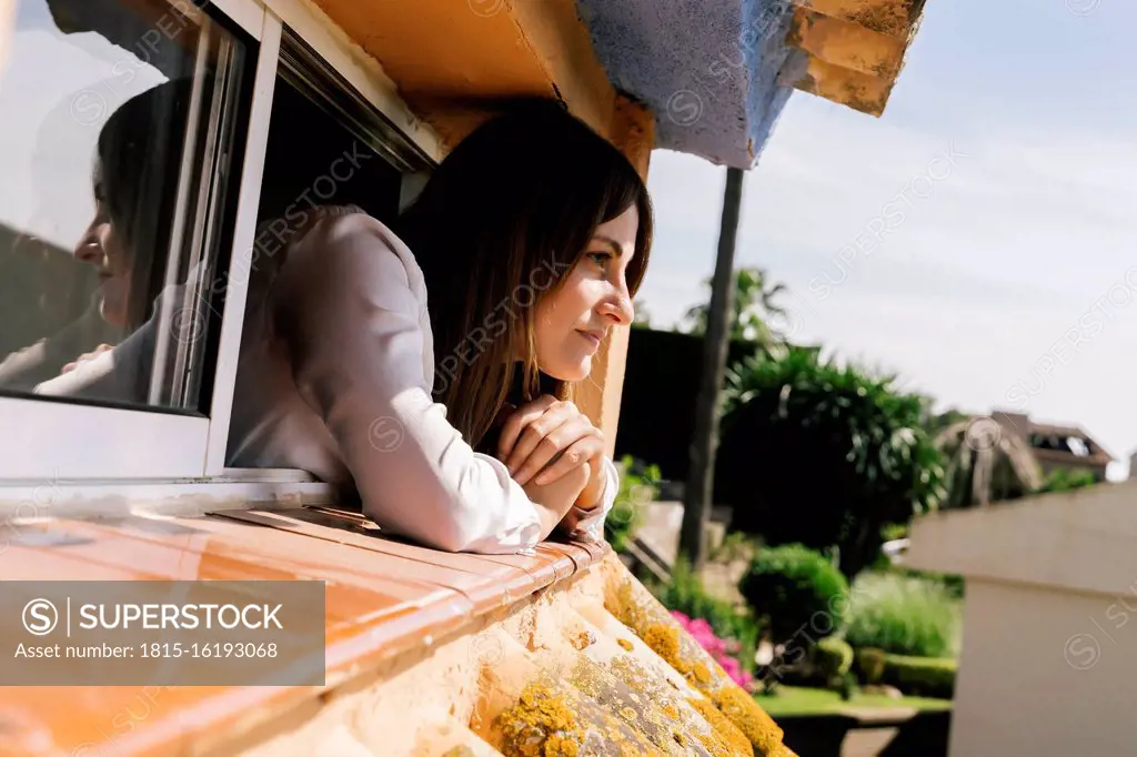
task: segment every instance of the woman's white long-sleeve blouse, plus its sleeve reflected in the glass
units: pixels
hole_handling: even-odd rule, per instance
[[[536,506],[431,397],[426,286],[410,250],[357,209],[313,216],[280,249],[262,246],[252,263],[230,465],[300,468],[354,488],[380,529],[439,549],[536,546]],[[115,386],[136,385],[132,368],[147,369],[152,357],[149,326],[38,391],[106,399]],[[573,538],[604,538],[619,490],[612,460],[604,471],[603,504],[578,508]]]

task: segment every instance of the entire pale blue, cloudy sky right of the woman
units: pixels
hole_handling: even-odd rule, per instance
[[[795,93],[746,178],[737,266],[787,285],[792,341],[939,409],[1137,451],[1137,3],[931,0],[881,118]],[[637,297],[707,298],[725,169],[657,150]]]

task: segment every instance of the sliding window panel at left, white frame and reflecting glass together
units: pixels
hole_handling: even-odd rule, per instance
[[[5,5],[0,481],[200,476],[265,13]]]

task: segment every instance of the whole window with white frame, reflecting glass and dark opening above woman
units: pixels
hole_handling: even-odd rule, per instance
[[[440,150],[321,18],[273,8],[0,0],[0,485],[302,480],[225,466],[258,217],[389,221]]]

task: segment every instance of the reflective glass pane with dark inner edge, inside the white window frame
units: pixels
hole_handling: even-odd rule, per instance
[[[190,2],[0,18],[0,393],[201,410],[246,58]]]

